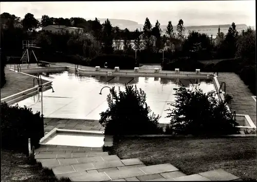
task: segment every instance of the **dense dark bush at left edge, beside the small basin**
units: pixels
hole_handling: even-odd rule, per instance
[[[44,136],[44,120],[40,112],[33,114],[26,106],[1,103],[1,132],[2,148],[28,153],[28,138],[31,146],[39,147]]]

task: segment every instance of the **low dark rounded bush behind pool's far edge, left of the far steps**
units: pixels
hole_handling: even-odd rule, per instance
[[[114,67],[120,67],[120,69],[134,69],[136,67],[136,60],[132,56],[116,55],[116,54],[103,54],[91,59],[89,66],[100,66],[104,68],[104,64],[107,63],[107,68],[114,69]]]

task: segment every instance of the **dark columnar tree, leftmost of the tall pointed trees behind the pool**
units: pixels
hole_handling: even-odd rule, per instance
[[[103,52],[105,54],[113,53],[113,36],[112,36],[112,24],[107,18],[103,24]]]

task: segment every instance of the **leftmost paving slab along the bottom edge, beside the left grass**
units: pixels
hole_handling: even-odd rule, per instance
[[[84,173],[79,176],[70,177],[71,181],[105,181],[110,180],[108,175],[106,175],[104,172],[101,173]]]

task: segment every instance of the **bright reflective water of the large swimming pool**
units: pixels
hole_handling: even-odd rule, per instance
[[[159,114],[159,123],[170,123],[166,118],[171,107],[170,102],[175,101],[174,88],[182,85],[192,88],[199,85],[205,93],[214,90],[213,80],[207,78],[161,78],[161,77],[123,77],[123,76],[76,76],[75,73],[61,72],[41,74],[42,79],[52,80],[52,90],[43,92],[44,117],[72,118],[72,119],[100,119],[100,113],[106,111],[108,104],[106,97],[108,88],[124,90],[124,85],[136,85],[146,93],[146,103],[150,109]],[[191,84],[193,83],[193,85]],[[26,105],[33,112],[41,112],[41,93],[19,102],[19,106]],[[172,107],[171,107],[172,109]]]

